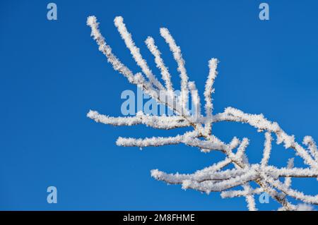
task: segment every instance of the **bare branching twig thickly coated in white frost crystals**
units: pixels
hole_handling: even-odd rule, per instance
[[[131,34],[126,29],[122,17],[114,19],[126,47],[131,56],[136,61],[141,71],[133,73],[126,67],[112,49],[107,45],[98,28],[95,16],[89,16],[87,25],[91,28],[91,36],[98,44],[98,48],[107,57],[107,61],[112,64],[115,71],[122,73],[130,83],[137,85],[158,104],[164,104],[175,112],[172,116],[152,116],[139,111],[136,116],[112,117],[99,114],[98,111],[89,111],[87,116],[98,123],[110,124],[112,126],[135,126],[145,125],[157,129],[189,128],[183,134],[173,137],[153,137],[153,138],[122,138],[117,139],[119,146],[134,147],[158,147],[163,145],[184,144],[197,147],[201,152],[219,151],[223,152],[225,159],[194,172],[194,174],[167,174],[158,169],[151,171],[153,178],[170,184],[179,184],[183,189],[198,190],[202,193],[219,192],[221,197],[245,197],[249,210],[257,210],[254,195],[268,193],[269,196],[281,204],[279,210],[308,210],[314,209],[312,205],[318,205],[318,195],[306,195],[299,190],[292,188],[292,178],[317,178],[318,176],[318,151],[313,138],[306,136],[302,142],[305,147],[295,141],[293,135],[288,135],[276,122],[267,120],[262,114],[247,114],[240,109],[232,107],[226,108],[223,112],[213,114],[214,92],[213,84],[216,80],[218,60],[208,61],[209,73],[204,90],[205,115],[201,114],[201,99],[199,91],[193,81],[189,81],[185,61],[182,57],[181,49],[173,39],[167,28],[160,28],[160,35],[172,51],[172,55],[177,62],[177,71],[181,80],[181,94],[177,95],[172,87],[171,75],[163,62],[161,53],[155,45],[153,37],[148,37],[145,41],[151,54],[154,56],[155,65],[161,73],[164,84],[155,77],[148,67],[146,60],[141,56],[140,50],[136,47]],[[191,92],[195,113],[190,114],[187,109],[189,102],[189,92]],[[247,159],[246,149],[249,139],[239,140],[234,137],[228,143],[220,140],[212,132],[213,123],[232,121],[247,123],[264,132],[263,157],[259,164],[250,164]],[[285,167],[277,168],[269,164],[273,138],[276,138],[277,145],[291,148],[295,151],[295,156],[300,157],[306,165],[305,168],[295,167],[294,159],[290,158]],[[260,151],[261,152],[261,151]],[[233,165],[231,169],[229,165]],[[281,178],[284,179],[281,182]],[[251,185],[251,184],[254,185]],[[255,185],[257,185],[256,188]],[[300,202],[298,205],[291,201]]]

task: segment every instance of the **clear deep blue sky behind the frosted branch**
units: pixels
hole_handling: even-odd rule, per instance
[[[123,90],[134,90],[114,72],[90,37],[86,18],[98,17],[115,54],[139,71],[113,25],[123,16],[141,53],[154,68],[143,41],[155,38],[173,81],[177,66],[159,28],[169,28],[187,71],[204,90],[208,60],[220,60],[215,111],[237,107],[278,121],[298,142],[318,139],[317,1],[266,1],[270,20],[258,18],[262,1],[54,1],[58,20],[47,20],[49,1],[0,4],[0,209],[246,209],[244,198],[222,200],[167,186],[151,169],[193,172],[222,159],[184,145],[117,147],[118,136],[175,135],[180,130],[112,127],[86,117],[89,109],[120,116]],[[225,141],[248,137],[251,162],[261,159],[263,135],[242,124],[220,123]],[[274,145],[271,164],[284,166],[293,150]],[[296,165],[302,165],[296,160]],[[317,181],[294,187],[317,194]],[[56,186],[58,203],[47,203]],[[258,205],[276,209],[278,204]]]

